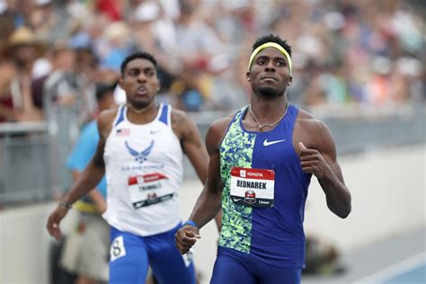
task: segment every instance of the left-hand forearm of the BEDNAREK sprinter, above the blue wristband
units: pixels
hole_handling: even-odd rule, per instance
[[[195,203],[190,219],[194,221],[199,228],[209,223],[209,221],[217,217],[217,213],[222,208],[221,191],[212,191],[204,187],[200,197]],[[217,224],[219,226],[219,224]]]

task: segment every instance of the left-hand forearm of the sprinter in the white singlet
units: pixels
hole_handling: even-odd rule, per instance
[[[93,188],[96,187],[96,184],[101,182],[104,173],[104,167],[96,165],[93,161],[91,161],[79,175],[77,181],[64,196],[63,200],[74,203],[76,200],[81,199],[84,194],[93,190]]]

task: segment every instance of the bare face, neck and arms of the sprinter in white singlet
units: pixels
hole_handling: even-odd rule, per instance
[[[154,120],[158,112],[158,106],[155,104],[155,93],[159,90],[159,81],[156,77],[155,67],[146,59],[138,58],[129,62],[124,78],[120,79],[120,85],[128,91],[128,118],[135,124],[144,124]],[[155,77],[154,77],[155,76]],[[138,87],[144,85],[146,92],[138,94]],[[139,107],[140,109],[137,109]],[[87,165],[87,168],[81,174],[81,178],[75,182],[73,188],[67,192],[63,200],[74,203],[81,196],[90,191],[105,173],[105,164],[103,161],[103,149],[105,141],[110,135],[112,122],[117,116],[117,109],[102,111],[97,123],[100,132],[100,141],[97,146],[93,160]],[[200,133],[195,123],[184,111],[172,109],[172,128],[182,142],[182,149],[191,163],[201,182],[206,181],[208,155],[201,143]],[[67,214],[67,208],[58,206],[49,217],[48,231],[57,240],[62,238],[62,232],[58,226],[60,220]]]

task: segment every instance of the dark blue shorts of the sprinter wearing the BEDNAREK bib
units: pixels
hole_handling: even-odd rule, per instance
[[[250,253],[219,246],[210,283],[299,284],[301,275],[302,269],[271,266]]]

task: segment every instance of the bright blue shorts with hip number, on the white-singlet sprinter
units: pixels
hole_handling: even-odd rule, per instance
[[[111,226],[110,283],[144,284],[148,266],[162,284],[195,283],[191,253],[182,255],[174,234],[182,225],[158,235],[138,236]]]

